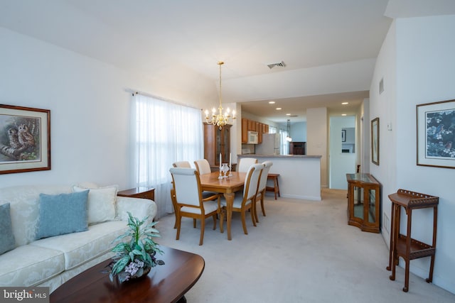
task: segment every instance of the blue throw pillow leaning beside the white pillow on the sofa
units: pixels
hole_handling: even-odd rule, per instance
[[[36,239],[87,231],[88,192],[40,194]]]

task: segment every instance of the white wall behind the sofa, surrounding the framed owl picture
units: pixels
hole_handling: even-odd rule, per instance
[[[126,89],[200,108],[218,99],[214,82],[189,71],[182,71],[183,87],[184,81],[152,81],[4,28],[0,41],[0,103],[50,109],[52,157],[51,170],[0,175],[0,187],[82,181],[129,187]]]

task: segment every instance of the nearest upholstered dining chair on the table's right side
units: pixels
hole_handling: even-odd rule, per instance
[[[250,166],[250,170],[247,171],[247,177],[245,177],[245,184],[243,185],[243,192],[237,192],[234,198],[234,204],[232,205],[232,211],[240,212],[242,216],[242,226],[245,235],[248,234],[247,224],[245,221],[245,213],[250,210],[251,221],[256,226],[254,204],[257,195],[257,185],[259,184],[259,178],[262,173],[264,165],[253,164]],[[226,209],[226,199],[221,199],[221,211],[220,211],[220,231],[223,233],[223,221],[224,213]]]

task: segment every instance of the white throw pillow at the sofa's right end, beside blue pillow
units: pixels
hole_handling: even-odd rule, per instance
[[[88,192],[88,224],[96,224],[115,219],[115,201],[117,186],[90,188]],[[73,186],[75,192],[87,190],[84,187]]]

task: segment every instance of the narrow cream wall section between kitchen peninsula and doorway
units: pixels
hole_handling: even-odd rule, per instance
[[[328,114],[326,107],[306,110],[306,155],[321,155],[321,187],[327,187]]]

